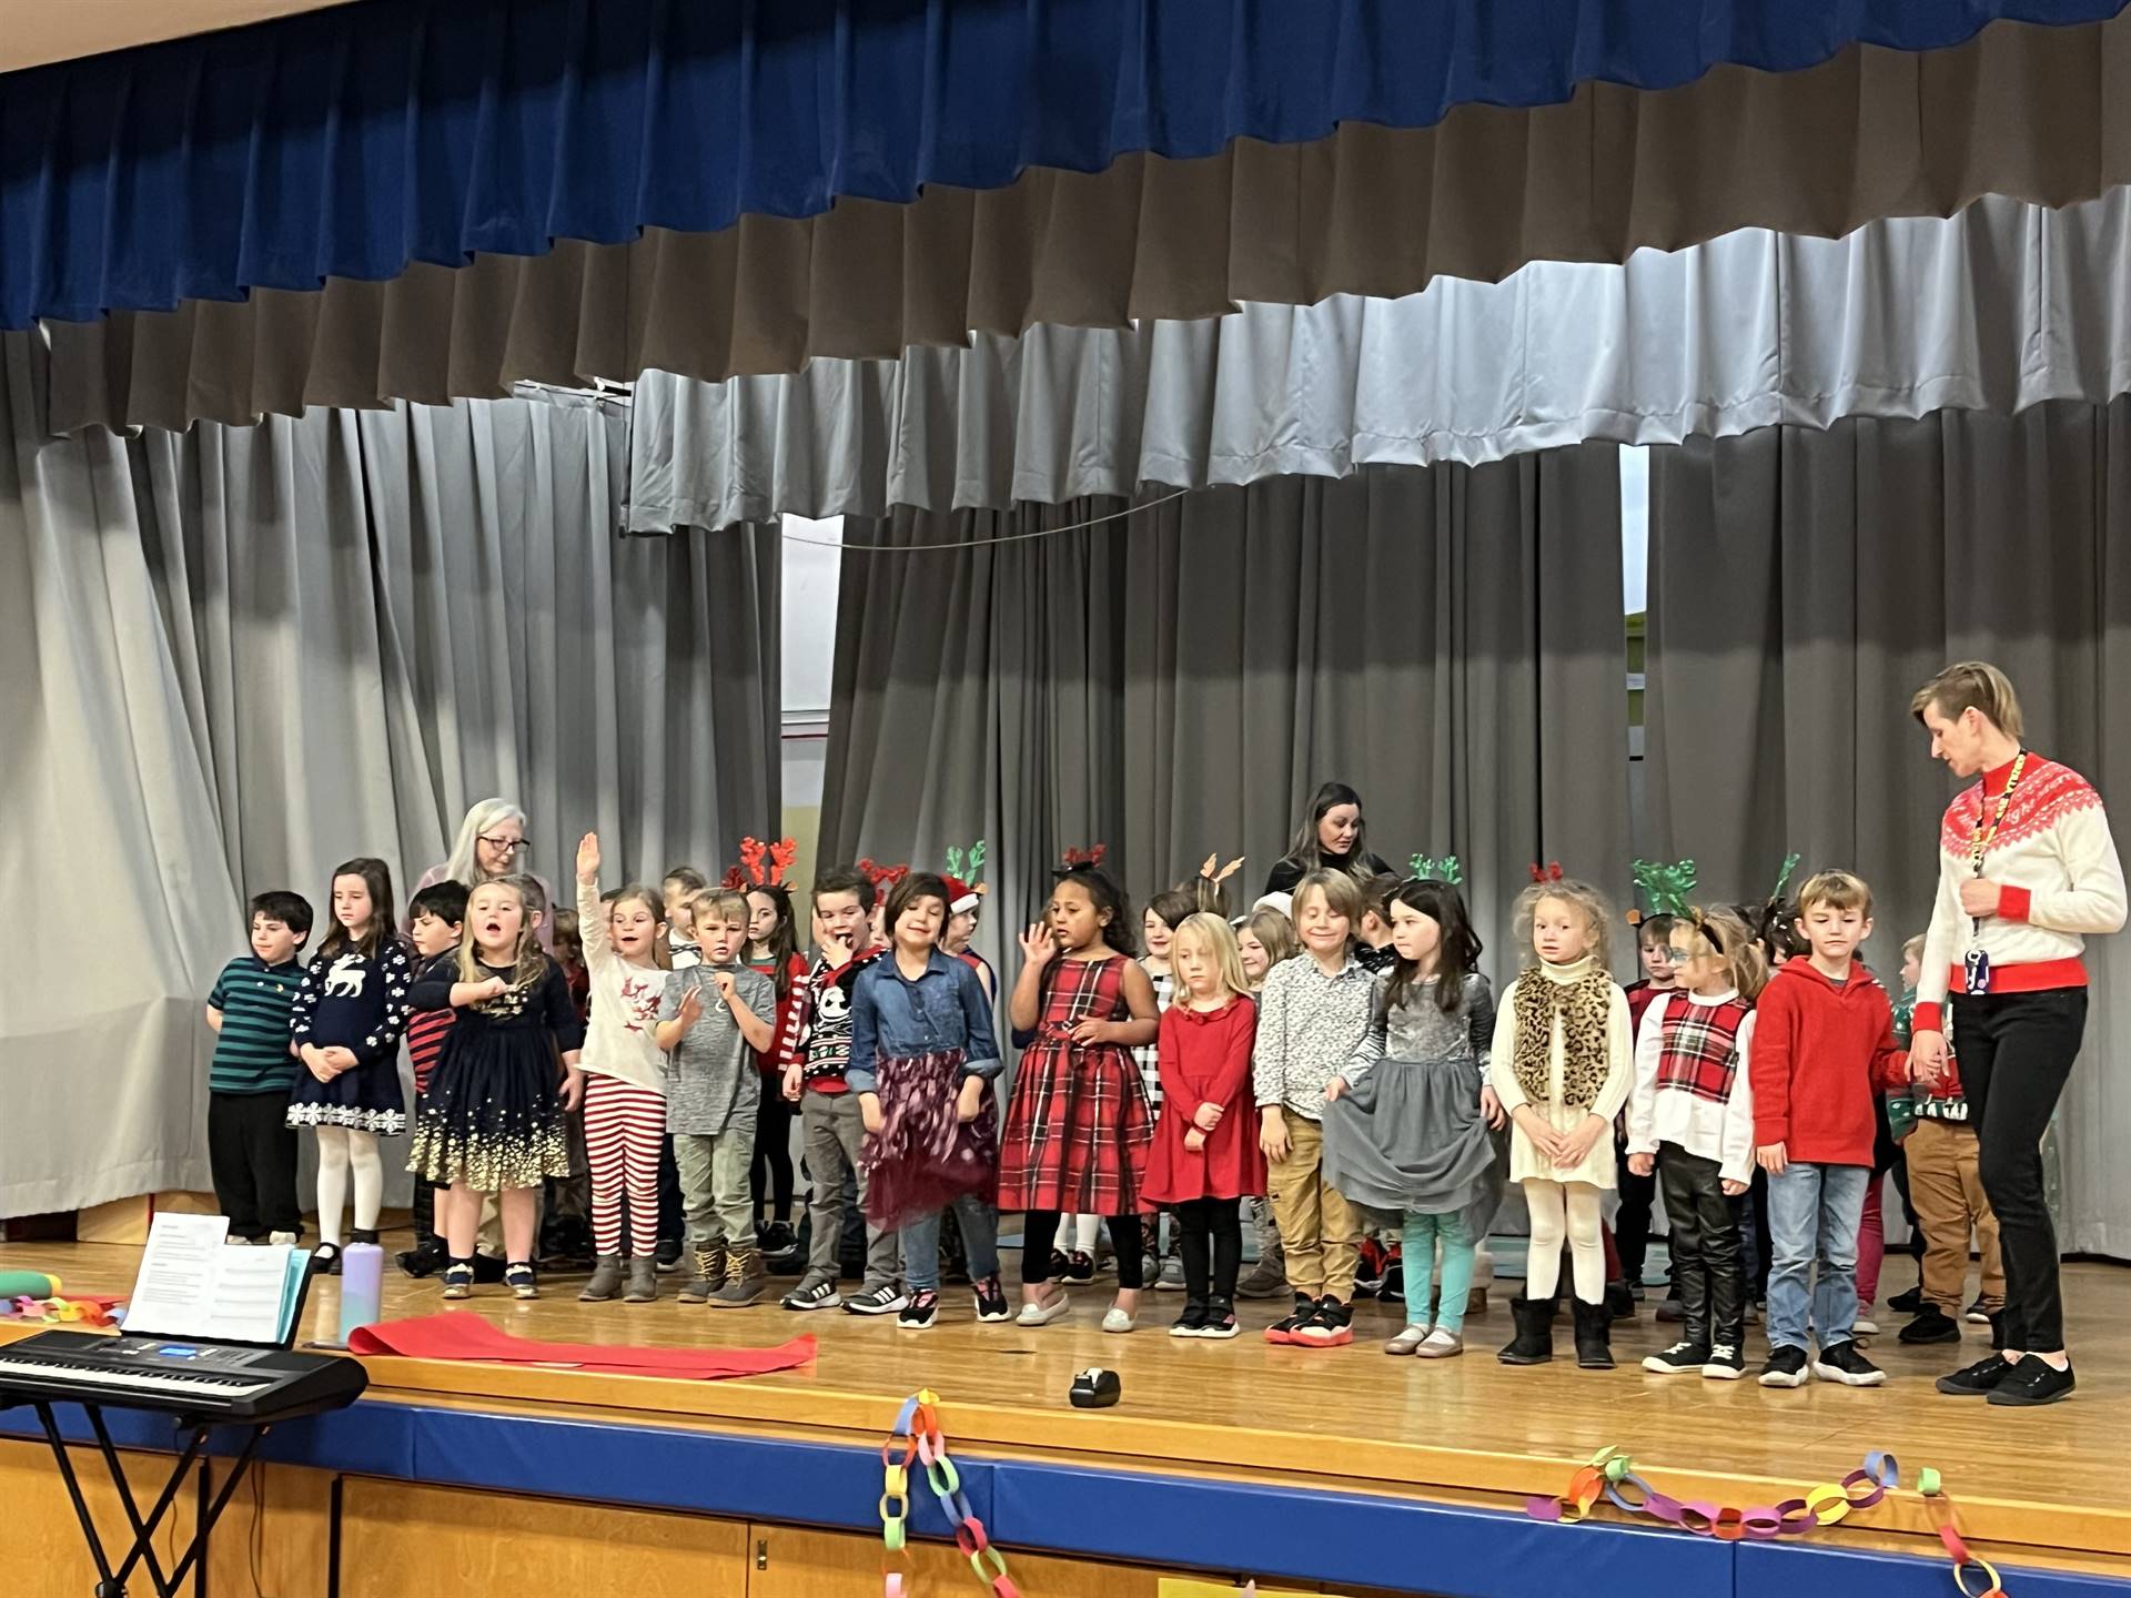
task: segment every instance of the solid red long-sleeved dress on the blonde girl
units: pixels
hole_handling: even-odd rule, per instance
[[[1257,1146],[1251,1093],[1251,1044],[1257,1042],[1257,1006],[1236,995],[1219,1010],[1193,1010],[1178,997],[1161,1012],[1161,1121],[1146,1159],[1149,1204],[1198,1197],[1257,1197],[1266,1191],[1266,1155]],[[1185,1148],[1191,1116],[1202,1104],[1221,1106],[1221,1125],[1198,1153]]]

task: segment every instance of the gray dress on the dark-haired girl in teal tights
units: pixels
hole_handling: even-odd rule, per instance
[[[1349,1204],[1400,1221],[1458,1214],[1466,1236],[1487,1236],[1509,1176],[1509,1144],[1479,1112],[1494,1042],[1494,991],[1464,980],[1462,1004],[1436,1004],[1436,982],[1417,982],[1387,1010],[1389,978],[1377,978],[1374,1021],[1347,1065],[1349,1091],[1325,1106],[1325,1183]]]

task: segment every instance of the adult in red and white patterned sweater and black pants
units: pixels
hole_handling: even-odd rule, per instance
[[[1939,1379],[1941,1393],[2048,1404],[2071,1391],[2056,1234],[2041,1193],[2041,1134],[2086,1029],[2084,942],[2125,925],[2125,874],[2101,795],[2031,754],[2020,699],[1982,661],[1950,665],[1909,710],[1931,756],[1982,778],[1939,827],[1939,897],[1924,935],[1909,1042],[1912,1074],[1946,1061],[1946,1006],[1961,1033],[1961,1080],[1980,1134],[1984,1193],[1999,1217],[2005,1315],[1999,1353]]]

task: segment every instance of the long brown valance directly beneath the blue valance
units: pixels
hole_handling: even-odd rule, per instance
[[[51,426],[185,428],[305,405],[895,358],[1038,322],[1208,317],[1240,300],[1413,294],[1528,260],[1626,260],[1745,226],[1837,237],[1982,194],[2069,205],[2131,181],[2131,19],[1992,23],[1946,51],[1858,45],[1803,72],[1585,83],[1421,130],[1031,170],[1006,190],[844,200],[631,245],[416,266],[390,283],[51,324]]]

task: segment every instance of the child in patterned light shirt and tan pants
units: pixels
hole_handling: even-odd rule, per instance
[[[1257,997],[1253,1093],[1272,1210],[1287,1253],[1294,1312],[1266,1342],[1334,1349],[1353,1342],[1360,1219],[1323,1170],[1325,1087],[1368,1038],[1374,978],[1353,957],[1362,891],[1345,871],[1296,884],[1302,955],[1274,965]]]

